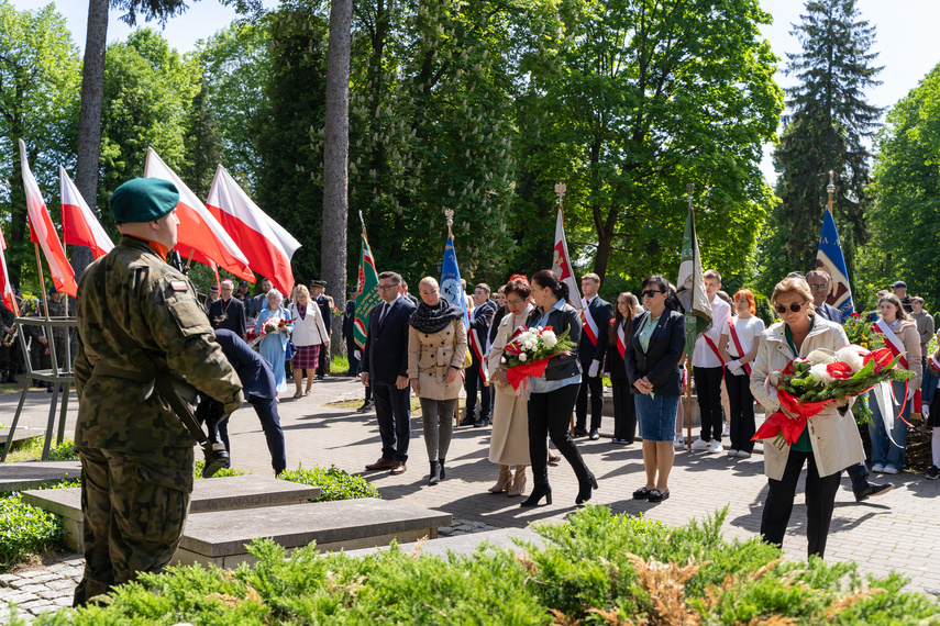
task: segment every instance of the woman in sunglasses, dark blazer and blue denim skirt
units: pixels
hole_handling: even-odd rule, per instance
[[[670,472],[675,459],[673,439],[682,395],[678,364],[685,346],[685,317],[667,306],[672,290],[663,276],[648,277],[642,290],[646,311],[633,321],[624,357],[646,470],[646,484],[634,491],[633,498],[662,502],[670,496]]]

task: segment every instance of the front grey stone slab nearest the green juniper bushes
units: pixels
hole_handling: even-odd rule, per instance
[[[245,544],[257,538],[274,539],[288,552],[311,541],[320,551],[335,551],[387,546],[392,539],[433,539],[452,521],[449,513],[376,498],[197,513],[186,521],[174,562],[220,568],[253,563]]]

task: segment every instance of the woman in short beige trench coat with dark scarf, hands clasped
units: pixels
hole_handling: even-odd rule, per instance
[[[454,432],[454,411],[461,393],[461,369],[467,351],[464,312],[441,298],[430,276],[418,283],[421,303],[408,321],[408,378],[421,402],[424,446],[431,463],[428,484],[444,478],[444,459]]]

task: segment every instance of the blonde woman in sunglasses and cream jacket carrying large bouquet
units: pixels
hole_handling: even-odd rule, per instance
[[[799,276],[789,276],[774,288],[771,303],[781,321],[761,334],[757,358],[751,371],[751,393],[767,411],[782,411],[789,418],[798,415],[781,406],[776,380],[771,375],[794,358],[806,358],[812,350],[838,350],[849,339],[842,326],[816,315],[812,292]],[[839,479],[842,470],[865,459],[851,401],[841,406],[827,405],[806,420],[806,429],[792,446],[782,449],[764,440],[764,473],[768,491],[761,518],[764,540],[783,545],[796,483],[804,463],[806,470],[806,538],[808,552],[822,558]]]

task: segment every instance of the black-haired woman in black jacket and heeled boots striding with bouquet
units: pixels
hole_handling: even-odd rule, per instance
[[[535,506],[542,498],[552,503],[552,488],[549,485],[549,450],[545,437],[571,463],[577,477],[578,492],[575,504],[590,500],[591,489],[597,489],[597,480],[587,466],[568,433],[568,424],[577,400],[580,385],[580,364],[577,360],[577,345],[580,338],[580,320],[577,310],[568,304],[568,286],[559,280],[552,270],[543,269],[532,277],[532,300],[535,310],[529,314],[528,326],[551,326],[556,335],[565,331],[574,344],[574,354],[553,356],[542,378],[533,378],[532,393],[529,396],[529,457],[532,461],[534,487],[532,494],[522,502],[522,506]]]

